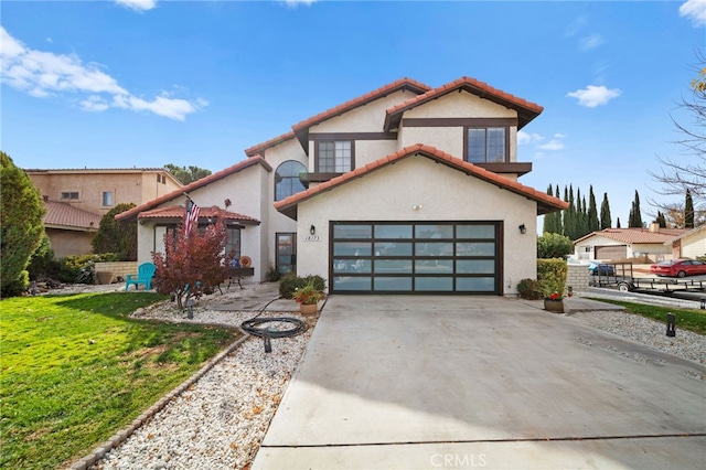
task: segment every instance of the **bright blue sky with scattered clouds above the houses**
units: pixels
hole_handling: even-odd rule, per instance
[[[627,226],[685,158],[671,114],[697,75],[706,0],[2,1],[1,142],[21,168],[212,171],[400,77],[471,76],[544,106],[521,182],[573,184]]]

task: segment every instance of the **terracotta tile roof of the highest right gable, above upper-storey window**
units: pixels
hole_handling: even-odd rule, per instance
[[[437,99],[451,92],[461,89],[480,96],[481,98],[490,99],[491,102],[498,103],[507,108],[515,109],[517,111],[518,129],[522,129],[544,110],[542,106],[535,103],[527,102],[526,99],[518,98],[510,93],[493,88],[484,82],[480,82],[471,77],[461,77],[387,109],[384,130],[391,131],[392,129],[399,127],[399,121],[405,111],[428,103],[431,99]]]

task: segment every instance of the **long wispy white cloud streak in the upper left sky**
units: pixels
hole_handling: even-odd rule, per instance
[[[149,111],[170,119],[184,120],[186,115],[205,107],[207,102],[171,98],[169,94],[152,100],[133,96],[118,85],[97,64],[83,64],[74,54],[54,54],[31,50],[0,26],[0,75],[2,83],[43,98],[67,93],[85,95],[82,109],[104,111],[118,107]],[[107,96],[106,96],[107,95]]]

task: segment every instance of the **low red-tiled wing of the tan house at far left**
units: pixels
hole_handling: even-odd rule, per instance
[[[44,231],[52,243],[54,256],[90,253],[90,241],[98,232],[100,215],[64,202],[44,199]]]

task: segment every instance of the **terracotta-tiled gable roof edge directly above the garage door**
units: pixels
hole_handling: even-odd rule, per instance
[[[297,204],[310,197],[319,195],[325,191],[330,191],[356,178],[361,178],[372,171],[379,170],[381,168],[387,167],[388,164],[416,154],[429,158],[439,163],[447,164],[448,167],[462,171],[469,175],[473,175],[483,181],[495,184],[499,188],[536,201],[537,215],[556,212],[568,207],[568,203],[561,201],[560,199],[550,196],[542,191],[537,191],[533,188],[518,183],[517,181],[511,180],[498,173],[493,173],[492,171],[488,171],[472,163],[466,162],[435,147],[425,146],[422,143],[415,143],[414,146],[405,147],[404,149],[400,149],[395,153],[388,154],[387,157],[383,157],[379,160],[368,163],[365,167],[356,168],[353,171],[343,173],[340,177],[333,178],[317,186],[310,188],[306,191],[301,191],[297,194],[278,201],[275,203],[275,209],[295,218],[292,215],[296,214]]]

